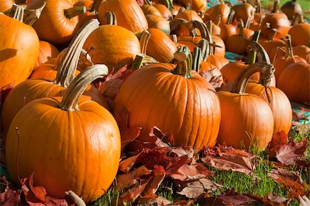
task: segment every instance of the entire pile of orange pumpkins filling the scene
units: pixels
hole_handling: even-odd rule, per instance
[[[290,101],[310,101],[309,23],[296,1],[281,10],[275,1],[269,13],[260,1],[220,2],[1,1],[12,181],[34,172],[49,196],[72,190],[91,203],[112,184],[127,143],[156,141],[154,126],[196,151],[264,150],[288,134]]]

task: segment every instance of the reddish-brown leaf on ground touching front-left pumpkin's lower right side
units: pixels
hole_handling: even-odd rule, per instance
[[[121,190],[132,187],[132,185],[137,183],[136,178],[150,173],[151,172],[147,167],[141,166],[132,170],[132,172],[129,172],[128,174],[121,174],[116,177],[116,189]]]

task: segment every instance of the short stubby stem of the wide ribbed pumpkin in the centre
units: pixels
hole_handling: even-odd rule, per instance
[[[177,61],[176,68],[172,70],[173,74],[184,76],[186,79],[192,77],[192,54],[187,46],[181,46],[174,54],[174,59]]]

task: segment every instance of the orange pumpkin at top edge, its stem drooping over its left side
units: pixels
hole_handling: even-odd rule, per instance
[[[135,0],[107,0],[99,6],[99,21],[105,23],[105,12],[114,12],[117,24],[139,34],[147,30],[147,20]]]

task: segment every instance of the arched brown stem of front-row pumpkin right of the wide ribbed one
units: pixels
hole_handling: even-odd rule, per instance
[[[242,72],[240,72],[240,74],[237,76],[236,81],[234,81],[234,84],[232,85],[231,93],[245,94],[245,88],[247,87],[249,78],[256,72],[260,72],[260,75],[269,73],[269,67],[273,66],[265,62],[248,65],[247,68],[242,70]]]

